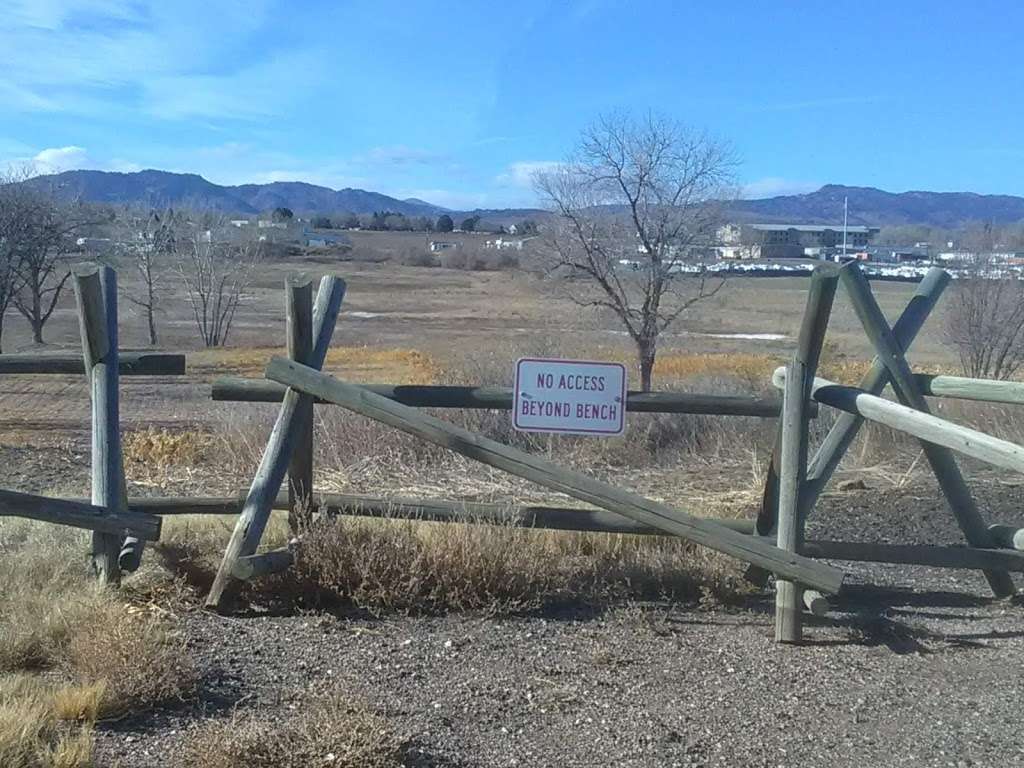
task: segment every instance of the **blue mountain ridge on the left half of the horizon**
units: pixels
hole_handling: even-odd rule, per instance
[[[26,183],[53,188],[62,197],[90,203],[210,208],[224,213],[252,214],[284,207],[296,213],[390,211],[407,216],[434,216],[445,210],[422,200],[397,200],[365,189],[331,189],[301,181],[221,186],[195,173],[154,170],[65,171],[37,176]]]

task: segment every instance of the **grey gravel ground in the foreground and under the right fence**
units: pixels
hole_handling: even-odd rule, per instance
[[[976,482],[1024,524],[1024,488]],[[880,503],[884,499],[885,503]],[[956,543],[934,483],[825,497],[815,538]],[[835,611],[777,646],[767,596],[515,618],[184,616],[199,703],[100,726],[101,764],[173,765],[206,718],[362,697],[417,766],[1024,764],[1024,607],[973,572],[847,564]]]

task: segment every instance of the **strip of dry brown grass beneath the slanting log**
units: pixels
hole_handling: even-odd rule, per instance
[[[488,614],[744,589],[731,560],[677,539],[379,519],[314,522],[294,578],[326,604]]]

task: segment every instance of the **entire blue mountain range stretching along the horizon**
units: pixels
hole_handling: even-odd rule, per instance
[[[301,181],[223,186],[194,173],[156,170],[135,173],[65,171],[37,176],[26,183],[46,186],[62,197],[92,203],[154,208],[190,206],[239,214],[254,214],[278,207],[290,208],[296,213],[390,211],[407,216],[436,216],[447,210],[415,198],[398,200],[366,189],[331,189]],[[1024,198],[1010,195],[889,193],[870,186],[842,184],[826,184],[805,195],[739,200],[730,204],[730,211],[733,218],[743,221],[840,223],[844,199],[849,201],[851,224],[922,224],[954,228],[979,221],[1005,224],[1024,220]],[[530,209],[515,211],[522,217],[540,213]]]

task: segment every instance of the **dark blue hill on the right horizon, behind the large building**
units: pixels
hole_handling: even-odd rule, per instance
[[[871,186],[826,184],[807,195],[740,200],[731,206],[744,221],[839,223],[843,199],[850,201],[850,223],[886,226],[925,224],[956,228],[973,221],[1007,224],[1024,219],[1024,198],[974,193],[887,193]]]

